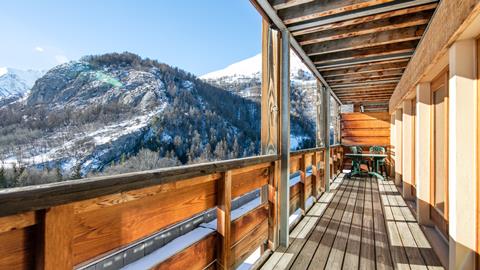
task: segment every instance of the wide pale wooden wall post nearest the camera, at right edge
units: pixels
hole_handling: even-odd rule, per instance
[[[477,191],[476,42],[449,49],[448,200],[449,268],[474,269]]]

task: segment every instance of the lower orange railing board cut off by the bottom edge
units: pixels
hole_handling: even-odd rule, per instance
[[[204,269],[215,261],[217,234],[212,233],[155,266],[155,270]]]

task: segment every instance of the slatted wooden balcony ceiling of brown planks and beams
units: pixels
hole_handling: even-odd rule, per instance
[[[268,7],[332,93],[386,109],[438,0],[251,0]],[[268,2],[267,2],[268,1]]]

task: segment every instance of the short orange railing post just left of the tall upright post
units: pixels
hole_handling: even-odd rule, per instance
[[[230,269],[232,171],[223,173],[223,177],[217,183],[217,265],[219,269]]]

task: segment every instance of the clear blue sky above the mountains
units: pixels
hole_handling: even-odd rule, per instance
[[[196,75],[261,50],[248,0],[0,1],[0,67],[49,69],[130,51]]]

